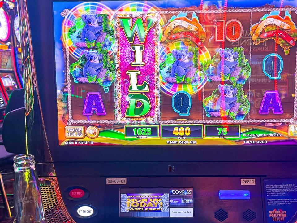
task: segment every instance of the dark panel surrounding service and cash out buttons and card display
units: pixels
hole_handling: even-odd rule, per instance
[[[98,213],[87,222],[255,222],[263,223],[261,178],[256,185],[243,186],[243,177],[127,177],[126,185],[106,185],[105,177],[58,179],[63,191],[72,183],[84,184],[90,190],[90,196],[83,201],[64,199],[69,213],[73,213],[78,205],[91,205]],[[193,218],[119,218],[120,188],[185,188],[193,187],[194,217]],[[249,190],[250,200],[219,200],[219,190]],[[64,197],[65,198],[65,197]],[[218,212],[219,211],[219,212]],[[226,214],[226,213],[227,214]],[[217,214],[216,214],[217,213]],[[77,223],[86,219],[75,217]]]

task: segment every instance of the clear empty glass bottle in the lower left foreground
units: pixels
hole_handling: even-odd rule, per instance
[[[16,155],[13,161],[16,223],[44,223],[41,190],[35,170],[34,156],[20,154]]]

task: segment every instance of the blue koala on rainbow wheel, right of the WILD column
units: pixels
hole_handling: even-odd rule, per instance
[[[175,57],[175,61],[171,68],[172,77],[177,74],[179,77],[183,77],[186,75],[188,71],[190,71],[191,66],[193,65],[192,61],[189,61],[189,58],[193,56],[192,52],[188,52],[188,50],[172,50],[171,53]]]

